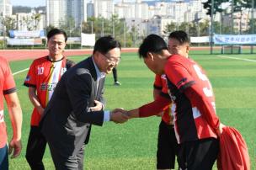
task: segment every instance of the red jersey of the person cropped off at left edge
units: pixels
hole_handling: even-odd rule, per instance
[[[0,148],[7,143],[6,125],[3,119],[3,95],[16,91],[15,82],[8,61],[0,56]]]

